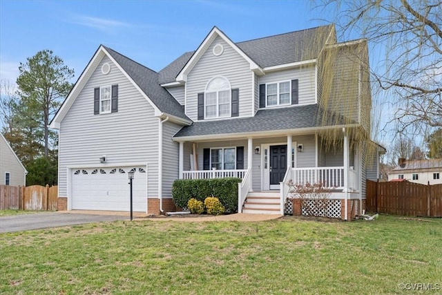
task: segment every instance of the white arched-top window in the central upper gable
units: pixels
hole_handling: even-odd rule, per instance
[[[231,86],[224,77],[213,77],[204,91],[205,118],[231,116]]]

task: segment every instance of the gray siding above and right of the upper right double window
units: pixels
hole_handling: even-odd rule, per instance
[[[315,66],[304,66],[291,70],[281,70],[259,77],[259,84],[289,81],[298,79],[299,104],[314,104],[316,102],[316,71]]]

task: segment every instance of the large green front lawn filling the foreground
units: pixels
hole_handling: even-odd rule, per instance
[[[410,293],[401,283],[438,294],[441,274],[442,219],[135,220],[0,234],[0,294]]]

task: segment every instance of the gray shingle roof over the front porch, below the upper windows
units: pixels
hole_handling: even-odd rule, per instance
[[[253,117],[193,122],[190,126],[184,126],[178,131],[173,140],[198,140],[198,138],[207,140],[209,137],[219,138],[220,135],[227,137],[266,135],[269,137],[287,135],[288,132],[308,134],[323,128],[349,126],[345,125],[346,120],[343,117],[330,120],[335,123],[334,125],[322,124],[323,113],[324,110],[318,104],[262,109]],[[355,124],[357,123],[354,122],[351,126]]]

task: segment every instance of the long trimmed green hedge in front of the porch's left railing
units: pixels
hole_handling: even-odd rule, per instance
[[[226,212],[234,213],[238,211],[238,182],[240,178],[175,180],[173,202],[184,208],[191,198],[204,201],[207,196],[217,196]]]

